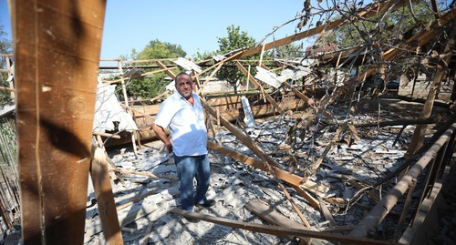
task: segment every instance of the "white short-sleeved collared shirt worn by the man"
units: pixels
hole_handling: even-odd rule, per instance
[[[202,104],[192,93],[193,106],[178,92],[161,103],[155,124],[170,128],[172,151],[176,156],[201,156],[207,154],[207,129],[202,114]]]

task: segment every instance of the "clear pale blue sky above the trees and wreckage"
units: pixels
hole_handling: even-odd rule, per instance
[[[132,48],[140,51],[155,39],[180,45],[187,56],[213,51],[218,48],[217,37],[227,36],[226,27],[231,25],[240,26],[241,31],[260,41],[275,26],[294,19],[303,3],[304,0],[109,0],[101,58],[128,55]],[[0,0],[0,24],[11,34],[7,8],[7,0]],[[275,39],[294,35],[297,23],[280,28]]]

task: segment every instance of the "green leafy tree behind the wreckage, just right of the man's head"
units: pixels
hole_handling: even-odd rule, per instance
[[[241,32],[239,26],[228,26],[226,28],[228,36],[218,37],[219,52],[226,54],[236,49],[253,47],[255,45],[254,37],[248,36],[244,31]],[[249,59],[257,59],[259,55],[247,57]],[[233,65],[233,62],[228,62],[227,65]],[[236,84],[245,79],[244,73],[235,66],[223,66],[217,73],[219,79],[226,80],[234,87],[236,91]]]

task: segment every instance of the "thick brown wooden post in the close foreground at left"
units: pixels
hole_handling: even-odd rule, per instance
[[[84,241],[105,7],[104,0],[12,1],[26,245]]]

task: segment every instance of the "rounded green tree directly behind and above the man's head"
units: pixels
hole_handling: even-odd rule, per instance
[[[131,57],[135,60],[149,60],[149,59],[160,59],[160,58],[177,58],[186,56],[185,51],[179,45],[170,44],[167,42],[161,42],[159,40],[152,40],[150,43],[145,46],[140,52],[137,52],[135,49],[131,51]],[[163,61],[165,65],[168,65]],[[147,65],[150,62],[145,62],[141,65]],[[144,69],[144,72],[150,70]],[[174,73],[179,72],[179,68],[173,70]],[[165,90],[165,86],[169,81],[165,80],[167,77],[166,73],[154,73],[152,76],[140,77],[130,81],[127,87],[127,95],[129,97],[142,97],[142,98],[151,98],[156,97]],[[118,93],[119,97],[122,98],[123,95]]]

